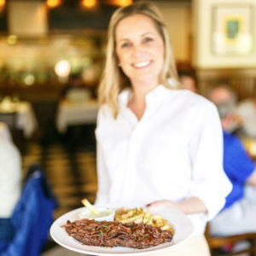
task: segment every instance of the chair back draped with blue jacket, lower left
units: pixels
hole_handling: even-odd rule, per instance
[[[38,256],[49,237],[56,207],[44,173],[38,166],[31,166],[20,201],[15,207],[11,222],[15,237],[10,241],[2,256]]]

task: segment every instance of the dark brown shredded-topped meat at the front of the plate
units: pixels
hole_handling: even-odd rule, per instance
[[[69,236],[84,245],[102,247],[133,247],[143,249],[172,241],[172,230],[161,230],[148,224],[119,221],[101,221],[81,219],[67,221],[63,225]]]

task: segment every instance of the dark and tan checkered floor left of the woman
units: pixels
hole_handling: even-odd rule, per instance
[[[22,159],[24,175],[32,164],[38,164],[45,172],[59,202],[55,218],[81,207],[84,197],[92,203],[95,201],[95,150],[63,143],[28,143]]]

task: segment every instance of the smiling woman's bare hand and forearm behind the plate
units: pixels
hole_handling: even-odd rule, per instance
[[[155,209],[160,207],[168,207],[175,209],[179,212],[183,212],[185,214],[193,214],[193,213],[205,213],[207,212],[207,207],[201,199],[197,197],[190,197],[186,200],[174,202],[170,200],[160,200],[153,201],[146,206],[148,209]]]

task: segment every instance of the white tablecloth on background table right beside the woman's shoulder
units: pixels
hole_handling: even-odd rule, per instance
[[[67,131],[68,125],[96,124],[98,103],[96,100],[86,102],[61,101],[56,116],[59,132]]]

